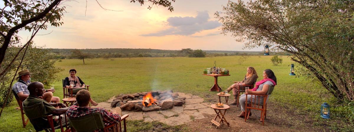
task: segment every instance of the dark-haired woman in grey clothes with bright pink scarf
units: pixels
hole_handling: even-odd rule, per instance
[[[249,94],[266,94],[268,92],[269,85],[276,85],[276,77],[273,73],[272,70],[266,69],[263,71],[263,80],[256,82],[256,87],[253,89],[247,89],[246,93]],[[270,96],[270,95],[269,95]],[[268,98],[269,98],[268,96]],[[255,97],[253,96],[253,100]],[[263,97],[259,99],[260,101],[263,101]],[[246,94],[242,94],[240,97],[240,105],[241,105],[241,114],[239,117],[244,118],[245,117],[245,107],[246,107],[246,101],[251,102],[251,95],[248,95],[247,100],[246,100]],[[267,99],[268,101],[268,99]],[[247,111],[249,111],[247,109]],[[250,113],[251,116],[251,113]]]

